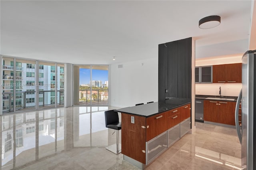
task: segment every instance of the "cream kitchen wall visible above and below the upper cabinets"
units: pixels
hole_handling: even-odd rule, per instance
[[[196,59],[196,66],[204,65],[218,65],[218,64],[231,64],[231,63],[241,63],[242,55],[226,55],[226,56],[216,56],[216,57],[206,57],[201,59]],[[219,88],[221,87],[222,96],[238,96],[242,83],[204,83],[196,84],[196,95],[219,95]]]

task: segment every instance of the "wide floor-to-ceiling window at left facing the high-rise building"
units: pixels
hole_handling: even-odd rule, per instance
[[[64,64],[2,57],[2,113],[64,106]]]

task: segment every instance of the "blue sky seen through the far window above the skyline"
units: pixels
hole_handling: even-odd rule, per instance
[[[108,70],[96,70],[92,69],[92,80],[101,80],[102,84],[108,81]],[[90,83],[90,69],[80,68],[79,84]]]

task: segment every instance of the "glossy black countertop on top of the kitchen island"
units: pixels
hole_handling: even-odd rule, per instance
[[[165,101],[158,101],[144,105],[116,109],[115,111],[147,118],[154,116],[158,113],[162,113],[168,110],[175,109],[182,105],[186,105],[188,103],[191,103],[191,99],[172,98]]]

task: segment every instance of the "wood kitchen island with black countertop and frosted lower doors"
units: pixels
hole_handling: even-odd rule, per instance
[[[116,109],[122,114],[122,154],[140,169],[190,131],[190,99],[172,98]]]

